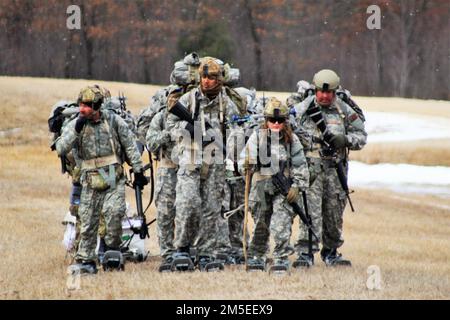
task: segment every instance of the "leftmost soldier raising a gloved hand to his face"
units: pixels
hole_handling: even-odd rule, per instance
[[[79,116],[64,128],[56,140],[58,155],[65,155],[76,146],[81,159],[81,241],[75,257],[81,272],[96,273],[97,233],[100,215],[106,225],[106,249],[119,250],[122,217],[125,206],[126,159],[135,172],[135,184],[148,183],[142,172],[133,134],[123,119],[108,110],[100,110],[104,101],[102,90],[87,87],[80,92]]]

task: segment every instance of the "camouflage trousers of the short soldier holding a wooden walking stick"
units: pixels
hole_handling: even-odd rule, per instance
[[[269,249],[269,237],[272,234],[275,242],[274,259],[287,259],[294,252],[289,242],[295,214],[286,198],[278,192],[266,191],[261,196],[262,191],[258,189],[262,188],[262,184],[271,184],[271,181],[258,182],[255,187],[252,186],[251,191],[255,226],[249,256],[265,258]]]

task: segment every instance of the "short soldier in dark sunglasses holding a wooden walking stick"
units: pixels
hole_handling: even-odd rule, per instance
[[[239,160],[242,172],[254,171],[249,199],[255,225],[248,264],[249,268],[265,267],[272,234],[275,240],[274,265],[287,269],[288,256],[293,253],[289,241],[295,216],[290,203],[298,202],[299,192],[308,187],[309,172],[303,147],[287,121],[288,108],[276,98],[271,98],[264,115],[265,124],[250,136]],[[280,170],[284,170],[285,177],[292,180],[287,196],[281,194],[272,182],[272,176]]]

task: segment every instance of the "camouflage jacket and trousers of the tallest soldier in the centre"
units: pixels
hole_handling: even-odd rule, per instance
[[[230,119],[238,116],[239,110],[223,88],[212,100],[197,87],[184,94],[179,101],[191,114],[194,114],[196,101],[199,101],[204,118],[220,139],[226,134],[220,121],[220,106],[223,107],[222,116],[227,127],[236,129]],[[172,130],[173,136],[180,136],[180,130],[183,130],[185,124],[185,121],[169,114],[167,127]],[[181,133],[183,134],[186,133]],[[179,169],[175,201],[175,248],[196,246],[199,255],[213,255],[217,241],[217,220],[221,213],[225,165],[221,151],[217,150],[214,143],[199,151],[196,142],[187,140],[189,139],[183,139],[177,145]],[[228,147],[227,145],[227,149]],[[193,153],[196,156],[192,157]]]

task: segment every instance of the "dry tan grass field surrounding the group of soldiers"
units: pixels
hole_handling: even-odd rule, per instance
[[[75,98],[88,83],[97,82],[0,77],[0,299],[450,298],[450,199],[385,190],[357,190],[353,195],[357,213],[346,212],[342,248],[352,260],[352,268],[330,269],[317,261],[310,270],[294,270],[288,276],[246,273],[240,268],[211,274],[159,274],[152,225],[147,244],[155,257],[142,264],[129,263],[123,273],[82,277],[79,290],[68,290],[61,220],[68,208],[70,180],[59,173],[59,161],[48,147],[46,120],[58,99]],[[110,88],[113,95],[124,91],[134,113],[156,89],[98,83]],[[383,98],[383,106],[391,104],[390,111],[398,105],[407,110],[408,102]],[[447,116],[450,113],[449,102],[423,104],[425,114],[433,113],[440,104],[442,110],[446,107]],[[383,108],[371,105],[368,109]],[[449,144],[445,141],[447,148],[441,150],[440,143],[411,143],[407,147],[412,151],[429,148],[429,156],[418,159],[414,157],[417,153],[411,152],[411,157],[404,159],[448,165],[445,161],[450,157],[443,160],[442,152],[449,151]],[[359,159],[376,163],[385,152],[396,156],[394,146],[368,146],[368,150],[361,152]],[[154,211],[148,218],[153,216]],[[371,265],[381,270],[380,290],[366,286]]]

